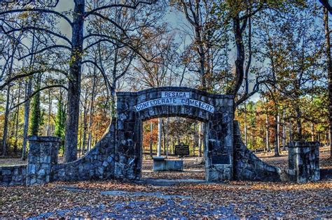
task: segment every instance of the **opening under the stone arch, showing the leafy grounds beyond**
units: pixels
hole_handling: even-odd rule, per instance
[[[204,120],[188,117],[142,120],[141,179],[206,179],[204,127]],[[183,166],[155,169],[153,158],[158,155]]]

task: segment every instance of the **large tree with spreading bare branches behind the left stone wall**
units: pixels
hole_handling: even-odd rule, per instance
[[[10,34],[16,31],[42,31],[44,33],[50,34],[53,37],[60,38],[62,41],[66,42],[66,45],[62,45],[60,43],[55,42],[54,45],[46,46],[40,51],[34,52],[33,54],[39,54],[41,52],[50,51],[54,48],[62,48],[69,50],[69,73],[64,73],[67,75],[69,80],[68,82],[68,92],[67,92],[67,99],[68,99],[68,107],[67,107],[67,122],[66,122],[66,135],[65,135],[65,149],[64,149],[64,161],[74,161],[76,160],[77,154],[77,141],[78,141],[78,117],[79,117],[79,103],[80,103],[80,93],[81,93],[81,68],[83,64],[83,54],[87,47],[92,47],[92,45],[96,45],[96,43],[92,43],[87,47],[83,47],[83,41],[87,38],[95,35],[88,34],[84,36],[84,21],[87,17],[90,16],[97,16],[102,17],[107,22],[111,22],[112,24],[116,25],[116,22],[113,20],[107,19],[99,12],[108,8],[131,8],[132,10],[136,9],[141,4],[152,4],[153,1],[127,1],[126,3],[109,3],[104,6],[99,6],[97,8],[92,8],[89,11],[85,11],[85,0],[74,0],[74,11],[72,13],[72,20],[65,14],[59,13],[56,10],[48,8],[30,8],[29,6],[25,6],[24,8],[15,8],[4,10],[0,12],[0,18],[4,17],[8,14],[13,13],[42,13],[44,15],[53,15],[56,17],[60,17],[62,20],[67,22],[69,27],[71,28],[71,40],[62,34],[56,33],[55,31],[51,31],[48,28],[43,27],[33,27],[28,25],[24,25],[20,28],[13,29],[11,26],[7,25],[8,30],[4,29],[1,26],[1,29],[6,34]],[[56,4],[55,4],[56,6]],[[53,7],[55,7],[53,6]],[[118,26],[117,26],[118,27]],[[126,45],[130,46],[130,43]],[[27,54],[26,56],[30,56],[31,53]],[[54,71],[54,70],[53,70]],[[34,73],[29,73],[29,75],[33,75]],[[26,77],[27,75],[25,75]],[[23,77],[23,76],[22,76]],[[11,77],[8,78],[5,84],[8,84],[11,81]],[[0,86],[4,87],[4,85]]]

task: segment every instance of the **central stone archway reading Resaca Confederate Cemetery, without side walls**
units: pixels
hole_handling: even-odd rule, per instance
[[[141,176],[141,124],[155,117],[187,117],[206,123],[206,180],[233,179],[233,96],[184,87],[118,92],[116,177]]]

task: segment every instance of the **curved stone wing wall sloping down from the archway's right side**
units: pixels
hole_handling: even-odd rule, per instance
[[[280,168],[270,166],[252,153],[242,142],[238,122],[234,122],[234,173],[237,180],[250,181],[281,181]]]

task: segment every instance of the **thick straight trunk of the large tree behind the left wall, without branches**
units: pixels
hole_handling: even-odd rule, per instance
[[[80,114],[81,65],[83,56],[83,23],[85,0],[76,0],[72,25],[72,50],[69,64],[68,115],[64,138],[64,162],[77,159],[78,117]]]

